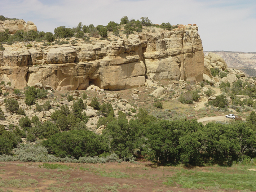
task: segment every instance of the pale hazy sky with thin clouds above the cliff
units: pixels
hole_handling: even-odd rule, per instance
[[[206,51],[256,52],[256,0],[0,0],[0,15],[32,21],[39,31],[107,25],[148,17],[152,23],[196,23]]]

